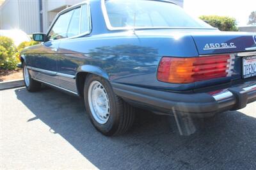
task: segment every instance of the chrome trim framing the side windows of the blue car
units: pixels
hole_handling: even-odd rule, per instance
[[[76,36],[70,36],[70,37],[67,37],[67,38],[61,38],[61,39],[58,39],[58,40],[68,40],[68,39],[72,39],[72,38],[77,38],[77,37],[80,37],[80,36],[85,36],[85,35],[90,35],[90,33],[92,33],[92,17],[91,17],[91,10],[90,10],[90,3],[89,1],[84,1],[82,3],[79,3],[79,4],[75,4],[74,6],[70,6],[64,10],[62,10],[60,13],[58,13],[56,15],[56,17],[54,18],[54,20],[52,21],[52,24],[51,26],[47,29],[47,32],[46,32],[46,36],[48,37],[52,27],[54,26],[56,20],[58,20],[58,18],[60,17],[60,15],[62,15],[63,13],[67,13],[67,12],[70,12],[71,10],[74,10],[76,8],[81,8],[82,9],[82,6],[84,4],[87,4],[87,13],[88,13],[88,21],[89,21],[89,24],[88,24],[88,29],[89,31],[86,31],[85,33],[80,33],[79,31],[79,35],[76,35]],[[81,12],[81,11],[80,11]],[[81,13],[80,13],[80,22],[81,22]],[[69,25],[69,24],[68,24]],[[79,30],[81,29],[81,26],[79,27]],[[58,40],[49,40],[49,41],[58,41]],[[47,41],[47,42],[49,42]]]

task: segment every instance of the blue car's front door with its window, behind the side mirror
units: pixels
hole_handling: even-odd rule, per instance
[[[67,38],[67,29],[72,15],[73,11],[58,15],[47,33],[48,41],[38,47],[38,54],[32,62],[35,67],[33,69],[35,71],[35,79],[60,86],[57,76],[57,61],[60,56],[58,50],[60,41],[63,38]]]

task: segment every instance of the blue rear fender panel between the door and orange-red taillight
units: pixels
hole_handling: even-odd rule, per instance
[[[79,62],[84,62],[83,65],[97,66],[105,70],[111,82],[158,88],[170,87],[170,84],[156,79],[156,70],[163,56],[198,56],[191,36],[184,36],[177,41],[172,40],[173,36],[163,36],[151,42],[150,33],[148,36],[137,33],[140,38],[131,32],[125,34],[127,35],[114,33],[65,40],[60,43],[60,51],[68,51],[63,57],[68,63],[71,59],[73,63],[77,63],[70,70],[76,69]],[[191,50],[183,50],[189,46]],[[173,51],[171,47],[177,50]],[[67,65],[64,66],[67,68]],[[61,67],[60,70],[63,70]],[[180,89],[177,84],[173,86]]]

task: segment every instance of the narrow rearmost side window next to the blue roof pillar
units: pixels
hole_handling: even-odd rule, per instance
[[[88,33],[90,31],[90,21],[88,15],[88,5],[83,4],[81,10],[81,31],[80,33]]]

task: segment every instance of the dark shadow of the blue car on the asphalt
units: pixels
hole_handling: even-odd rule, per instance
[[[190,136],[180,136],[167,116],[138,112],[127,134],[105,137],[93,128],[80,98],[54,89],[15,93],[35,114],[28,123],[42,121],[99,169],[256,168],[256,119],[238,111],[202,121]]]

